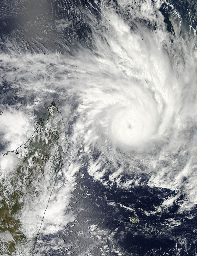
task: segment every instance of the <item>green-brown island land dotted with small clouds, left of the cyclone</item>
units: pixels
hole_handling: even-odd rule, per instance
[[[45,182],[45,175],[50,177],[50,195],[61,163],[59,147],[68,148],[63,119],[55,103],[48,110],[47,121],[36,123],[34,138],[15,152],[20,166],[8,176],[0,170],[0,255],[14,255],[16,244],[27,242],[21,231],[20,212],[27,198],[33,200],[42,193],[40,184]]]

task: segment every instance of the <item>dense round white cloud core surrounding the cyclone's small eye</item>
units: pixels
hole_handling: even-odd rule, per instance
[[[118,146],[142,147],[152,139],[156,130],[157,111],[149,106],[133,103],[120,108],[111,120],[111,138]]]

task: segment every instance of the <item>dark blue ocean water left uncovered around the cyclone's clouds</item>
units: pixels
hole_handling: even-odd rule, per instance
[[[119,13],[118,2],[113,2],[114,8],[117,7]],[[189,30],[189,25],[196,29],[197,3],[195,1],[170,1],[170,3],[183,19],[185,27],[182,33]],[[101,1],[88,0],[2,1],[1,51],[9,51],[6,46],[9,40],[15,42],[17,50],[30,53],[48,54],[57,51],[73,56],[80,48],[87,47],[94,50],[94,40],[89,24],[95,22],[95,19],[99,24],[100,6]],[[174,29],[169,19],[172,8],[164,3],[159,10],[165,18],[167,31],[173,34]],[[88,12],[92,13],[93,20],[88,16]],[[67,20],[69,25],[57,31],[56,20],[61,19]],[[148,23],[144,21],[144,25]],[[6,72],[4,67],[1,72]],[[21,97],[17,92],[18,89],[13,89],[5,80],[0,85],[0,103],[11,106],[20,102],[25,105],[36,98],[36,95],[32,95],[32,98]],[[50,97],[57,102],[57,105],[61,105],[58,93]],[[48,105],[51,98],[48,99],[46,95],[45,105]],[[39,112],[36,114],[41,115]],[[109,181],[109,175],[110,173],[106,174],[103,182]],[[125,175],[122,181],[124,179],[132,179],[132,176]],[[49,246],[49,251],[43,255],[68,255],[68,251],[78,256],[102,255],[99,247],[104,245],[111,249],[119,248],[122,253],[120,255],[197,255],[197,208],[180,213],[180,202],[185,196],[181,195],[167,210],[155,212],[156,206],[161,205],[164,199],[175,196],[176,193],[169,189],[149,187],[146,185],[148,179],[148,175],[141,175],[141,184],[144,185],[133,185],[132,189],[126,190],[118,187],[117,183],[110,185],[110,181],[105,186],[88,175],[86,167],[82,168],[77,177],[78,185],[71,203],[72,209],[78,216],[75,226],[72,226],[72,223],[68,224],[65,230],[57,235],[43,237],[43,240],[48,243],[53,237],[58,236],[63,238],[66,244],[72,243],[73,247],[67,248],[66,252],[58,249],[53,252]],[[126,208],[132,208],[133,211]],[[191,215],[193,217],[189,218]],[[138,220],[137,224],[131,223],[129,217],[135,217]],[[171,228],[167,224],[167,219],[170,218],[180,221],[181,224]],[[103,236],[99,233],[100,240],[96,235],[93,239],[89,236],[87,228],[89,225],[97,225],[99,230],[107,230],[108,233],[103,233]],[[70,232],[69,235],[68,232]],[[112,233],[113,238],[110,240],[109,236],[112,237]],[[90,250],[92,254],[88,252],[83,254],[93,240],[98,242]],[[113,256],[117,253],[110,252],[108,255]]]

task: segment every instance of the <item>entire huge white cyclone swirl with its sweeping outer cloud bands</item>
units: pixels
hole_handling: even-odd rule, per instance
[[[73,56],[19,54],[9,45],[11,54],[1,54],[7,70],[1,79],[18,88],[20,97],[33,99],[33,109],[55,100],[69,124],[71,145],[89,158],[93,176],[104,176],[107,168],[116,173],[113,177],[138,174],[142,165],[151,174],[148,185],[181,190],[196,203],[182,184],[185,176],[196,180],[195,172],[179,166],[196,152],[194,41],[179,37],[178,25],[175,35],[167,33],[159,7],[150,4],[149,10],[148,2],[139,12],[131,8],[125,20],[103,9],[99,27],[92,29],[94,50],[81,48]],[[146,15],[155,30],[136,21]],[[12,66],[19,62],[16,76]],[[96,162],[95,150],[100,154]],[[122,186],[129,188],[131,182]]]

